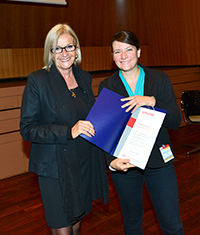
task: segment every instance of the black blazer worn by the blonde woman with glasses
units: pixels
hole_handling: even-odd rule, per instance
[[[91,89],[92,77],[78,66],[73,67],[73,72],[89,112],[95,102]],[[77,117],[72,99],[55,66],[52,66],[50,71],[41,69],[28,76],[22,98],[20,133],[24,140],[32,142],[30,171],[58,178],[56,145],[70,149],[74,141],[70,132],[77,122]],[[68,154],[70,157],[76,157],[74,152],[68,151]]]

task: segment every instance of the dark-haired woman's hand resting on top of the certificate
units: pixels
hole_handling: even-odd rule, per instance
[[[132,110],[131,113],[135,112],[139,107],[144,106],[144,105],[151,106],[151,107],[154,107],[156,105],[156,99],[151,96],[134,95],[134,96],[122,98],[121,101],[127,101],[121,107],[122,108],[128,107],[125,111],[129,112],[130,110]]]

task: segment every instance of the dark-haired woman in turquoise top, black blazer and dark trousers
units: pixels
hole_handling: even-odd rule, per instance
[[[126,235],[142,235],[142,191],[143,182],[154,204],[154,208],[165,235],[183,235],[179,215],[177,177],[173,166],[174,156],[166,161],[166,149],[172,146],[167,128],[177,129],[181,114],[176,102],[170,78],[162,71],[156,71],[138,64],[141,54],[138,38],[130,31],[118,32],[112,42],[113,60],[118,70],[100,83],[126,98],[122,108],[134,112],[147,105],[167,110],[149,161],[144,170],[134,167],[129,159],[108,157],[112,168],[112,179],[118,192]]]

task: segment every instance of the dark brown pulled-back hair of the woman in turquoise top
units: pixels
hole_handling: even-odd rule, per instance
[[[128,43],[132,46],[135,46],[137,50],[140,48],[140,43],[136,35],[129,31],[129,30],[121,30],[118,33],[115,34],[111,41],[111,51],[113,52],[113,42],[118,41],[118,42],[124,42]]]

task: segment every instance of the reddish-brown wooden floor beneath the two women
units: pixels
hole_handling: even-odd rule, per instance
[[[200,131],[181,127],[169,131],[176,160],[180,214],[187,235],[200,234],[200,151],[187,155],[184,143],[200,143]],[[110,203],[94,202],[82,223],[81,235],[123,235],[120,205],[108,173]],[[161,235],[153,205],[144,186],[144,235]],[[0,234],[50,235],[46,225],[37,177],[25,173],[0,181]]]

